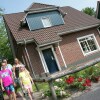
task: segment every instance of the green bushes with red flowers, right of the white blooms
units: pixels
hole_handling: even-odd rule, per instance
[[[91,86],[91,82],[98,82],[100,78],[100,65],[96,64],[77,73],[67,75],[65,78],[67,88],[84,90]]]

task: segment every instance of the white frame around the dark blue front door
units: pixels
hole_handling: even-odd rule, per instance
[[[55,58],[55,60],[56,60],[57,66],[58,66],[58,70],[61,71],[61,67],[60,67],[60,64],[59,64],[57,55],[56,55],[56,53],[55,53],[55,51],[54,51],[53,46],[50,45],[50,46],[46,46],[46,47],[43,47],[43,48],[38,48],[39,56],[40,56],[40,59],[41,59],[41,61],[42,61],[42,65],[43,65],[43,68],[44,68],[45,73],[50,73],[50,72],[49,72],[49,69],[48,69],[48,67],[47,67],[46,61],[45,61],[45,59],[44,59],[42,50],[49,49],[49,48],[52,50],[52,53],[53,53],[53,55],[54,55],[54,58]]]

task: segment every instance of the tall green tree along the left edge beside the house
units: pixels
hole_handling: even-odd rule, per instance
[[[8,41],[8,36],[6,28],[2,19],[3,10],[0,8],[0,58],[6,58],[12,61],[13,56],[10,49],[10,44]]]

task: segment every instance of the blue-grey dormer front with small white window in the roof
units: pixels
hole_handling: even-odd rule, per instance
[[[64,24],[63,17],[58,11],[28,14],[26,21],[30,31]]]

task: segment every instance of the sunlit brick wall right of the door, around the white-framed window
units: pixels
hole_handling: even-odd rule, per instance
[[[77,38],[85,36],[85,35],[89,35],[89,34],[94,34],[100,45],[100,37],[96,28],[62,36],[62,41],[60,42],[60,48],[67,65],[87,57],[83,55],[81,48],[78,44]],[[58,51],[58,49],[56,51]],[[57,54],[58,59],[60,60],[61,57],[59,56],[57,52],[56,54]],[[61,66],[64,66],[62,61],[59,61],[59,62]]]

